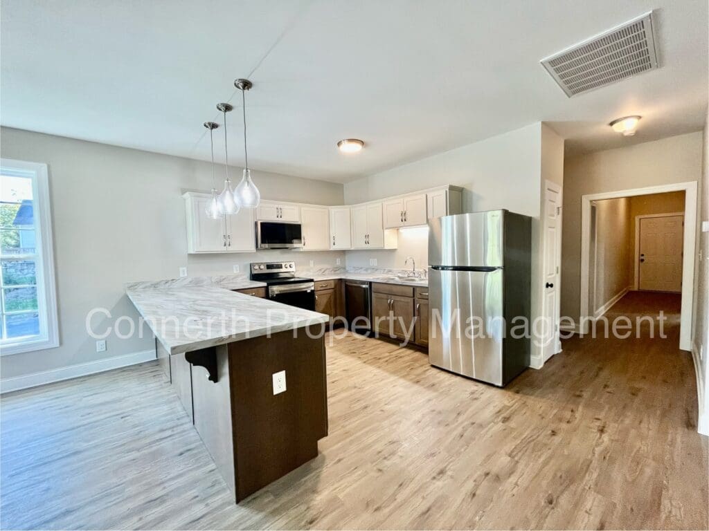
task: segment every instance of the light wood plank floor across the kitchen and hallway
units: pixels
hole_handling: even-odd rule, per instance
[[[631,293],[613,314],[679,298]],[[506,389],[347,334],[328,348],[320,455],[248,498],[147,364],[1,399],[3,529],[708,527],[691,356],[573,338]]]

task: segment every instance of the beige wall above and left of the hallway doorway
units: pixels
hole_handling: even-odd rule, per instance
[[[564,161],[562,315],[579,318],[581,195],[698,181],[702,133],[610,149]]]

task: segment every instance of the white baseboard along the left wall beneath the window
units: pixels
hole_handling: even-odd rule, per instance
[[[79,365],[69,365],[69,367],[62,367],[60,369],[34,372],[31,375],[4,378],[0,379],[0,394],[19,391],[20,389],[28,389],[29,387],[37,387],[38,385],[51,384],[53,382],[61,382],[65,379],[94,375],[96,372],[120,369],[121,367],[128,367],[128,365],[155,360],[155,358],[155,349],[143,350],[142,352],[125,354],[116,356],[115,358],[106,358],[105,360],[90,361],[80,363]]]

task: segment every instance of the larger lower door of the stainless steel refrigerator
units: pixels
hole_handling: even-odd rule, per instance
[[[431,365],[503,384],[504,271],[428,270]]]

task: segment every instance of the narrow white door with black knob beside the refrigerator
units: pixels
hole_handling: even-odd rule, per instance
[[[543,350],[544,360],[561,350],[559,341],[559,278],[561,271],[561,212],[562,189],[559,185],[546,182],[544,217],[544,265],[542,282],[544,286],[543,314],[545,317]]]

